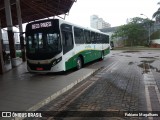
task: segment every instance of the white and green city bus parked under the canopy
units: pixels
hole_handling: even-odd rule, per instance
[[[61,19],[28,23],[25,36],[29,72],[81,69],[110,53],[108,35]]]

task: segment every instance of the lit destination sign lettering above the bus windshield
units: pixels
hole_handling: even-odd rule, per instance
[[[51,22],[36,23],[32,24],[32,29],[47,28],[51,26],[52,26]]]

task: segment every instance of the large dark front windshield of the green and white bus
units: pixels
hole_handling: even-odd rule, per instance
[[[26,39],[27,56],[30,59],[50,59],[61,51],[58,32],[32,32],[26,35]]]

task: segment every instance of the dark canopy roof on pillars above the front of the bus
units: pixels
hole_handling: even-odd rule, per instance
[[[67,14],[76,0],[20,0],[22,23]],[[10,0],[13,26],[18,25],[16,0]],[[4,0],[0,0],[2,28],[7,27]]]

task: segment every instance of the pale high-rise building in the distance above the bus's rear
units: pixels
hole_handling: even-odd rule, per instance
[[[102,18],[99,18],[97,15],[92,15],[90,17],[90,26],[95,29],[104,29],[111,27],[109,23],[105,22]]]

